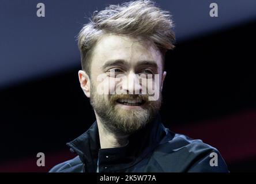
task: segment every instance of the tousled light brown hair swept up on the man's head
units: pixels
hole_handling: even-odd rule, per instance
[[[170,13],[150,0],[110,5],[105,10],[94,11],[89,23],[78,34],[82,70],[90,74],[93,48],[105,33],[140,37],[152,41],[165,53],[174,48],[173,27]]]

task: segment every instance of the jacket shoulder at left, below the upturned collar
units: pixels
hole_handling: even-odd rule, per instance
[[[79,158],[76,156],[71,160],[67,160],[66,162],[62,162],[52,167],[49,173],[82,173],[83,164]]]

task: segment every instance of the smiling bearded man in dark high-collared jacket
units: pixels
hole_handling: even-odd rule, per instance
[[[152,1],[110,5],[78,35],[81,88],[96,121],[50,172],[228,172],[219,152],[164,128],[159,109],[172,20]]]

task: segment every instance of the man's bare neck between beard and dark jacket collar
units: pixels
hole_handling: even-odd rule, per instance
[[[97,125],[99,129],[100,148],[119,148],[124,147],[128,143],[129,135],[116,135],[104,128],[99,116],[96,115]]]

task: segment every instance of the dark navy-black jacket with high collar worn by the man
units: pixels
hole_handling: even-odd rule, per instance
[[[216,148],[171,132],[161,124],[160,116],[131,135],[125,147],[100,149],[96,121],[67,145],[78,156],[54,166],[50,172],[96,172],[97,162],[100,173],[228,172]],[[210,156],[212,152],[217,156]],[[217,159],[217,166],[210,166],[213,157]]]

